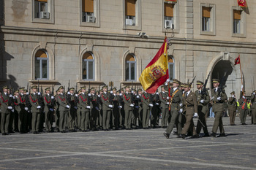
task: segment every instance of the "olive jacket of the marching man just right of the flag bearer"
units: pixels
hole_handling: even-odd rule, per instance
[[[195,112],[198,112],[197,109],[197,97],[195,96],[195,93],[190,91],[189,95],[186,97],[186,93],[184,97],[182,98],[182,104],[184,107],[184,111],[186,110],[189,114],[194,114]]]

